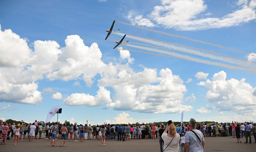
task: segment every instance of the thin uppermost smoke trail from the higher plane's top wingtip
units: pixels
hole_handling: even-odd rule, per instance
[[[141,29],[144,29],[144,30],[149,30],[149,31],[152,31],[152,32],[160,33],[160,34],[170,35],[170,36],[173,36],[173,37],[179,37],[179,38],[182,38],[182,39],[187,39],[187,40],[190,40],[190,41],[199,42],[199,43],[202,43],[202,44],[208,44],[208,45],[211,45],[211,46],[217,46],[219,48],[229,49],[231,51],[236,51],[236,52],[247,54],[244,51],[241,51],[241,50],[238,50],[238,49],[233,49],[233,48],[228,48],[228,47],[225,47],[225,46],[222,46],[222,45],[219,45],[219,44],[213,44],[213,43],[204,42],[204,41],[192,39],[192,38],[181,36],[181,35],[174,35],[174,34],[170,34],[170,33],[166,33],[166,32],[161,32],[161,31],[150,29],[150,28],[145,28],[145,27],[140,27],[140,26],[137,26],[137,25],[132,25],[132,24],[129,24],[129,23],[124,23],[124,22],[121,22],[121,21],[117,21],[117,22],[122,23],[122,24],[126,24],[126,25],[130,25],[132,27],[137,27],[137,28],[141,28]]]

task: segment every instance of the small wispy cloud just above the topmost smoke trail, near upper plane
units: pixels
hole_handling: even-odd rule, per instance
[[[132,24],[134,25],[139,25],[139,26],[145,26],[145,27],[155,27],[154,23],[150,21],[148,18],[143,18],[142,15],[137,15],[134,17],[134,13],[130,11],[128,13],[127,19],[131,21]]]

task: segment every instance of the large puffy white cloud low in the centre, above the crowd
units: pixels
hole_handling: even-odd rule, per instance
[[[107,108],[145,113],[177,113],[192,110],[192,106],[181,104],[186,87],[183,80],[173,75],[170,69],[161,69],[159,77],[156,69],[144,68],[144,71],[137,73],[131,69],[119,70],[116,74],[118,78],[106,75],[98,80],[99,85],[111,86],[115,91],[113,102],[108,103]]]

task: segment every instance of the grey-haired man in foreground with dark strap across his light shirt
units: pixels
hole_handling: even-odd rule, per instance
[[[201,131],[195,129],[196,121],[191,118],[189,121],[190,131],[185,134],[184,152],[203,152],[204,135]]]

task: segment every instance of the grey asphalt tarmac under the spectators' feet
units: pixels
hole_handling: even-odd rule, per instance
[[[236,143],[236,138],[232,137],[206,137],[204,152],[255,152],[256,143],[252,136],[252,143],[244,143],[245,138],[241,138],[242,143]],[[6,145],[0,145],[0,152],[159,152],[159,139],[149,140],[134,140],[130,141],[106,141],[106,146],[101,146],[100,140],[85,140],[83,143],[74,142],[73,140],[66,141],[66,147],[59,147],[61,140],[57,140],[57,147],[50,146],[50,139],[39,139],[34,142],[29,142],[25,139],[19,142],[19,145],[14,145],[14,140],[7,140]],[[180,150],[181,151],[181,150]]]

